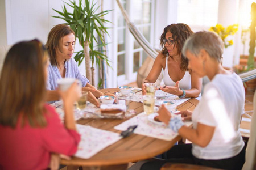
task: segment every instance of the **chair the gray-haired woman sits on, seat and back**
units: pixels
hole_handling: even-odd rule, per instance
[[[242,170],[256,169],[256,92],[254,92],[253,99],[253,117],[251,118],[250,138],[246,147],[245,164]],[[161,170],[181,170],[181,169],[204,169],[204,170],[217,170],[200,165],[183,164],[183,163],[166,163]]]

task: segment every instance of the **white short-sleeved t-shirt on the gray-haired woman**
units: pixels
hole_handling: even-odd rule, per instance
[[[193,128],[214,126],[210,143],[202,148],[193,144],[192,154],[199,159],[226,159],[236,156],[244,143],[239,126],[245,105],[245,90],[236,74],[217,74],[204,88],[204,95],[192,114]]]

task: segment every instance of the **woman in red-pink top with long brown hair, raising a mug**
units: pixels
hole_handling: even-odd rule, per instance
[[[77,150],[73,103],[79,86],[60,92],[63,125],[44,104],[48,65],[47,50],[37,40],[19,42],[7,53],[0,78],[0,169],[46,169],[51,153],[70,156]]]

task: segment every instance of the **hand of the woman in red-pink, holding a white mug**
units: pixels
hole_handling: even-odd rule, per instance
[[[64,103],[71,103],[73,105],[73,103],[81,97],[81,88],[77,81],[75,81],[68,90],[61,91],[57,89],[57,91]]]

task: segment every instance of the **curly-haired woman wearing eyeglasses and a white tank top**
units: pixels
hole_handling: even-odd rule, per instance
[[[201,92],[201,78],[188,69],[188,59],[181,54],[185,40],[193,31],[186,24],[171,24],[164,28],[160,37],[162,51],[142,84],[142,93],[146,94],[144,83],[155,83],[162,69],[165,87],[160,90],[179,97],[198,97]]]

